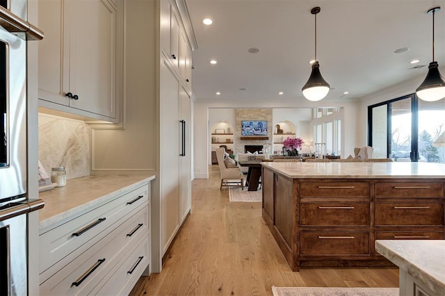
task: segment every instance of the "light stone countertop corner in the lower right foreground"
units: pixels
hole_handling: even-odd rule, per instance
[[[445,295],[445,240],[375,240],[375,250],[437,295]]]

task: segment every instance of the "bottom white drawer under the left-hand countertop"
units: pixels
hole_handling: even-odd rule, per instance
[[[103,286],[101,283],[102,287],[95,295],[128,295],[149,262],[149,240],[145,238],[131,254],[124,254],[122,265]]]

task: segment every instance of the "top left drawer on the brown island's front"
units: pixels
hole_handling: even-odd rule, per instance
[[[369,197],[368,182],[302,182],[301,197]]]

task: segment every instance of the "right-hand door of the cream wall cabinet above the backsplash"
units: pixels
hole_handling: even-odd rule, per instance
[[[72,108],[116,117],[116,10],[107,1],[70,3]],[[88,21],[87,21],[88,20]]]

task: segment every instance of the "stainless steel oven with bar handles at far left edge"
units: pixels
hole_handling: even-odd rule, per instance
[[[26,295],[27,215],[43,206],[26,190],[26,0],[0,0],[0,295]],[[37,177],[36,177],[37,178]]]

